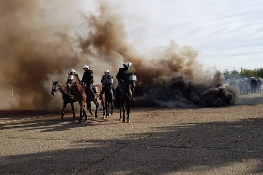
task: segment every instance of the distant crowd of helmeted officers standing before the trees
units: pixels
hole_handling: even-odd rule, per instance
[[[234,89],[239,88],[240,94],[261,93],[262,80],[260,77],[257,79],[255,77],[249,77],[237,80],[233,78],[231,81],[228,79],[226,84]]]

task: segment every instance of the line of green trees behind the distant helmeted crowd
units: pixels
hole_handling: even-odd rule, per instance
[[[230,79],[230,80],[232,78],[244,79],[248,77],[263,78],[263,67],[255,68],[255,69],[247,69],[247,68],[241,67],[240,70],[234,67],[232,70],[224,69],[222,73],[225,79]]]

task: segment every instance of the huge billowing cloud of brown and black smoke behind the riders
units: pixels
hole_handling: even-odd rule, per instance
[[[4,92],[13,88],[16,108],[60,110],[62,98],[50,94],[52,80],[65,83],[72,68],[81,78],[81,66],[87,64],[99,84],[105,69],[115,76],[125,62],[133,63],[130,70],[137,75],[134,105],[233,104],[235,92],[223,85],[220,72],[200,71],[198,51],[171,41],[148,58],[128,42],[114,7],[104,1],[95,6],[92,14],[83,12],[78,1],[0,0],[1,87]]]

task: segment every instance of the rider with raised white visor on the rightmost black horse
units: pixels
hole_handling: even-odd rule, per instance
[[[132,63],[130,62],[126,62],[123,64],[123,68],[119,68],[119,72],[118,74],[116,75],[116,78],[118,79],[118,86],[116,88],[116,93],[114,94],[115,96],[115,99],[117,99],[118,95],[119,95],[119,91],[120,91],[120,85],[122,85],[124,83],[125,80],[129,80],[129,67],[132,66]],[[133,97],[133,88],[131,88],[131,92],[132,92],[132,100],[135,101],[135,98]]]

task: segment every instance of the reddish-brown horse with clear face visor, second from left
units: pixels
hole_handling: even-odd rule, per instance
[[[89,108],[90,113],[91,112],[91,105],[90,102],[93,101],[94,104],[96,105],[96,111],[95,111],[95,118],[98,117],[98,107],[99,107],[99,103],[97,101],[98,97],[101,97],[102,99],[102,107],[103,107],[103,116],[105,116],[105,99],[104,99],[104,91],[102,89],[102,86],[99,84],[96,84],[95,87],[98,89],[98,94],[95,94],[96,99],[93,100],[92,96],[90,96],[89,94],[87,95],[85,92],[85,87],[80,83],[80,79],[77,77],[77,75],[69,75],[68,79],[67,79],[67,88],[68,88],[68,93],[70,92],[71,88],[74,88],[75,92],[76,92],[76,99],[80,105],[80,112],[79,112],[79,120],[78,123],[81,123],[81,118],[82,118],[82,111],[85,108],[85,103],[87,103],[87,108]],[[84,115],[85,115],[85,120],[87,121],[87,115],[85,110],[83,111]]]

